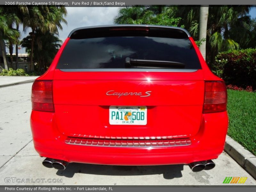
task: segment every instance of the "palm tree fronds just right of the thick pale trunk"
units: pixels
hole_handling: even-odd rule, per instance
[[[230,30],[240,28],[237,35],[247,33],[244,27],[238,27],[237,23],[241,17],[247,16],[252,6],[220,6],[209,7],[208,17],[208,42],[206,51],[210,56],[210,62],[215,63],[215,56],[220,51],[238,49],[240,45],[230,36]],[[250,21],[248,21],[250,22]]]

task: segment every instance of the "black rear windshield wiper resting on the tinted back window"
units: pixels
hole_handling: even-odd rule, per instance
[[[184,63],[175,61],[125,58],[125,68],[185,68]]]

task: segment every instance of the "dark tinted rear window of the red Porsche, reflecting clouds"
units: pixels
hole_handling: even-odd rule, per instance
[[[182,63],[185,69],[199,69],[200,62],[188,38],[157,36],[106,36],[70,39],[64,48],[58,69],[127,68],[125,61],[152,60]],[[176,68],[156,64],[130,68]]]

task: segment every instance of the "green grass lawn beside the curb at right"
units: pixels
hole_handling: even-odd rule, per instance
[[[256,93],[228,90],[228,135],[256,155]]]

